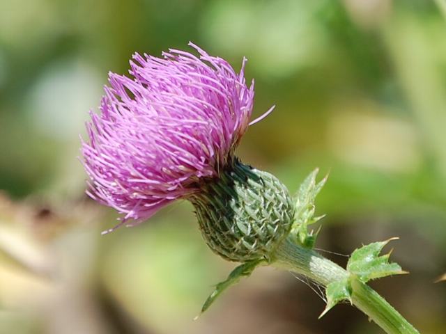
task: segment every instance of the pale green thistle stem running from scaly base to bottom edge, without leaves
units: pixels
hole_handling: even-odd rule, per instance
[[[303,248],[290,239],[277,247],[272,266],[300,273],[314,282],[327,286],[343,280],[348,272],[314,250]],[[388,334],[420,334],[409,322],[387,303],[374,289],[353,278],[352,302]]]

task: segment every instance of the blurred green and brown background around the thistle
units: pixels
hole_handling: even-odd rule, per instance
[[[256,80],[238,154],[293,192],[315,167],[318,248],[401,237],[410,275],[372,283],[422,333],[446,333],[443,0],[0,0],[0,333],[380,333],[291,273],[259,269],[193,321],[233,264],[188,203],[101,237],[79,133],[107,72],[192,40]],[[390,249],[390,248],[389,248]],[[346,256],[327,253],[346,263]],[[317,288],[314,287],[317,291]]]

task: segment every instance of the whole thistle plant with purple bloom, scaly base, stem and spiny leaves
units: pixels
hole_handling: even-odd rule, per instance
[[[191,44],[192,45],[192,44]],[[355,250],[342,269],[312,250],[317,233],[314,199],[325,180],[312,173],[291,200],[274,175],[242,164],[236,146],[249,122],[254,84],[222,58],[192,45],[199,57],[170,50],[164,58],[134,54],[130,75],[109,74],[110,86],[87,123],[82,142],[89,195],[114,207],[121,223],[146,220],[177,199],[194,205],[208,246],[226,260],[243,262],[215,290],[224,289],[261,264],[295,271],[325,286],[330,310],[350,301],[387,333],[419,334],[365,283],[403,273],[389,255],[391,239]],[[116,228],[115,227],[115,228]],[[114,228],[112,228],[114,230]],[[106,232],[110,232],[108,230]]]

